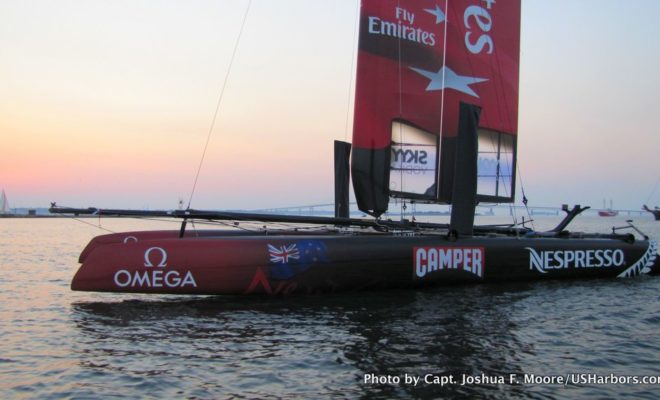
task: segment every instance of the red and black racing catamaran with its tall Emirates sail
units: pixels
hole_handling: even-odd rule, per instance
[[[335,142],[334,217],[53,205],[181,220],[179,230],[94,238],[72,289],[290,294],[657,273],[657,245],[639,231],[569,231],[588,207],[564,207],[550,231],[475,226],[479,202],[514,201],[519,53],[520,1],[362,0],[353,140]],[[349,177],[366,218],[349,215]],[[392,197],[451,204],[451,220],[385,219]],[[194,220],[234,229],[189,229]]]

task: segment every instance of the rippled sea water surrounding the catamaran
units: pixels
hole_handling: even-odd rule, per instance
[[[660,222],[634,218],[660,239]],[[556,222],[537,217],[537,229]],[[660,277],[274,299],[72,292],[78,254],[100,233],[0,219],[0,398],[660,397],[660,384],[602,382],[660,377]],[[546,381],[526,383],[532,374]]]

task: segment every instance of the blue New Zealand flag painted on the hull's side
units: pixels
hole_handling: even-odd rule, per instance
[[[290,244],[268,245],[270,278],[285,280],[307,271],[311,266],[328,262],[325,244],[302,240]]]

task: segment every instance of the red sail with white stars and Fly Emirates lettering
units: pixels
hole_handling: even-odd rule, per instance
[[[519,0],[362,1],[352,172],[363,211],[384,211],[394,122],[445,143],[456,137],[462,101],[482,108],[480,128],[517,133],[519,51]],[[411,151],[404,161],[415,159]]]

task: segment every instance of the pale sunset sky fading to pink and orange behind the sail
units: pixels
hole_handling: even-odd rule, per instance
[[[247,4],[0,0],[0,189],[11,206],[187,203]],[[252,0],[194,208],[333,201],[332,142],[351,138],[357,8]],[[660,178],[658,15],[655,0],[523,0],[518,160],[531,205],[638,209],[649,198]],[[650,200],[660,206],[659,191]]]

